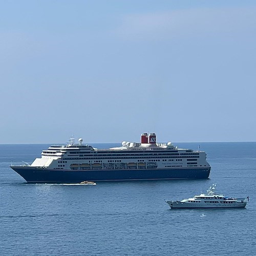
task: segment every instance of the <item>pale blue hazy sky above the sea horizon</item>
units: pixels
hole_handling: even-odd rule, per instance
[[[256,1],[0,0],[0,144],[256,141]]]

